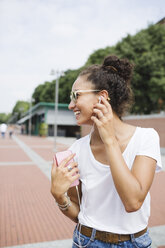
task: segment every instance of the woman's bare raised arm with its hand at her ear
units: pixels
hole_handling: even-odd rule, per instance
[[[137,211],[151,187],[156,161],[147,156],[136,156],[132,170],[129,170],[116,140],[112,108],[104,97],[102,103],[95,105],[95,116],[91,119],[105,145],[113,181],[124,207],[127,212]]]

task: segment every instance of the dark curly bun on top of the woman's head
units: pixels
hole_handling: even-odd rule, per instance
[[[133,65],[128,59],[119,59],[115,55],[110,55],[104,59],[102,67],[110,73],[118,74],[127,83],[132,77]]]

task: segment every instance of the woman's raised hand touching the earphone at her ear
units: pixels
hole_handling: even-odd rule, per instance
[[[91,120],[96,124],[103,143],[111,144],[116,139],[111,105],[101,97],[101,103],[94,105],[93,113],[95,116],[92,116]]]

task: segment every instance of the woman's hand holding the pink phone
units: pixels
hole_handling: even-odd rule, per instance
[[[66,166],[74,156],[75,154],[68,156],[58,166],[55,159],[53,159],[51,171],[51,193],[56,200],[64,196],[70,185],[80,177],[78,174],[78,164],[76,162],[69,163],[72,168],[71,171],[69,171]]]

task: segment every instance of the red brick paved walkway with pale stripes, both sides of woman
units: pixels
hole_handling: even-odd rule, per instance
[[[74,139],[58,138],[65,150]],[[61,214],[50,194],[52,138],[0,139],[0,247],[70,248],[75,224]],[[165,156],[162,156],[165,165]],[[165,247],[165,172],[151,188],[152,247]]]

